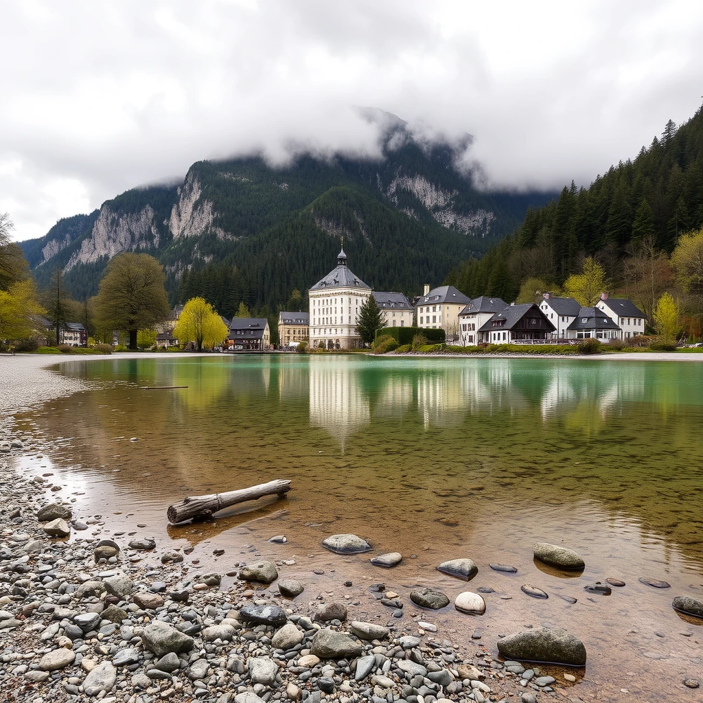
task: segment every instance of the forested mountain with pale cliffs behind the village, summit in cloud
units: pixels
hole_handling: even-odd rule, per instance
[[[60,268],[79,299],[94,295],[115,254],[153,254],[172,302],[206,295],[229,315],[241,301],[276,307],[293,288],[307,290],[333,266],[342,236],[350,266],[370,285],[417,293],[554,195],[479,191],[472,174],[456,169],[470,135],[420,142],[394,115],[368,119],[380,129],[376,159],[302,154],[283,168],[258,155],[196,162],[178,186],[134,188],[22,249],[40,287]]]

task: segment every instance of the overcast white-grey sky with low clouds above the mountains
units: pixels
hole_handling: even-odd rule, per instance
[[[475,136],[502,188],[588,185],[703,95],[703,3],[0,0],[16,239],[196,160],[373,153],[354,110]]]

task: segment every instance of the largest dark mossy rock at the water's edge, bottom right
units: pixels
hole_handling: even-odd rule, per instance
[[[525,630],[498,640],[498,652],[506,659],[550,662],[567,666],[586,664],[586,647],[566,630]]]

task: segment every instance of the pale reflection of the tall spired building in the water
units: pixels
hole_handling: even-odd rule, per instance
[[[342,446],[347,437],[370,425],[368,397],[358,385],[356,360],[347,356],[315,359],[310,364],[310,425],[323,427]]]

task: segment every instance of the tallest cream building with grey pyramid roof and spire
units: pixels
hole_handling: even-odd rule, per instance
[[[366,283],[347,266],[344,249],[337,254],[337,266],[310,288],[310,346],[326,349],[362,347],[356,331],[359,308],[371,295]]]

